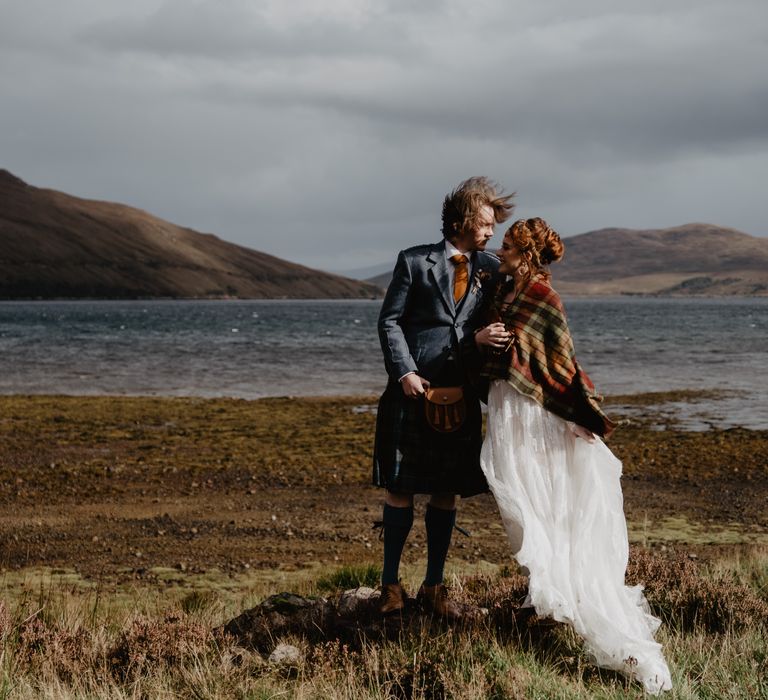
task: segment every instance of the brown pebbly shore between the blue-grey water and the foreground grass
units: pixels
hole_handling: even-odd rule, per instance
[[[158,567],[378,562],[373,405],[373,397],[0,397],[0,569],[151,580]],[[635,541],[704,553],[768,542],[768,431],[655,430],[649,414],[610,446],[624,462]],[[510,561],[490,496],[462,503],[458,524],[471,537],[456,533],[452,559]],[[423,558],[423,527],[409,547],[406,558]]]

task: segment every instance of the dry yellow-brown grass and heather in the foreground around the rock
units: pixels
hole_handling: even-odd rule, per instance
[[[339,567],[303,587],[308,595],[335,591],[370,584],[377,574],[372,566]],[[633,577],[645,579],[649,603],[664,620],[658,639],[675,683],[665,697],[768,698],[768,548],[708,564],[635,548]],[[459,598],[492,608],[484,627],[425,622],[398,639],[352,645],[275,640],[300,649],[301,660],[289,666],[270,664],[216,631],[254,604],[245,589],[164,600],[141,589],[72,595],[76,582],[66,577],[38,583],[0,602],[0,698],[643,697],[637,685],[592,665],[569,627],[509,624],[524,580],[504,569],[452,582]]]

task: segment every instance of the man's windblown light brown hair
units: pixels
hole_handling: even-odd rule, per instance
[[[474,228],[480,209],[489,206],[497,224],[510,216],[515,193],[505,195],[498,183],[487,177],[464,180],[443,201],[443,238],[451,240]]]

